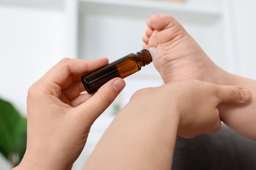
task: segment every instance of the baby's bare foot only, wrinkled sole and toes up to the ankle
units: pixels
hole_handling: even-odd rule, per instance
[[[147,25],[143,48],[158,49],[154,65],[165,83],[186,78],[214,82],[209,71],[219,67],[177,20],[168,15],[153,15]]]

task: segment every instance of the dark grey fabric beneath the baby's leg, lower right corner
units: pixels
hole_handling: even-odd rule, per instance
[[[177,137],[172,169],[255,170],[256,141],[242,137],[224,125],[214,134],[193,139]]]

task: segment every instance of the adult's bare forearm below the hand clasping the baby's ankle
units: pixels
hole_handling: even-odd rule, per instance
[[[127,105],[112,122],[85,169],[171,169],[178,120]]]

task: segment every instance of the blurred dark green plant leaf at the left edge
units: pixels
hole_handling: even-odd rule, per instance
[[[20,163],[26,150],[26,129],[26,118],[0,99],[0,152],[12,165]]]

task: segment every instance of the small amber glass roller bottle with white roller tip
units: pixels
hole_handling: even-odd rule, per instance
[[[139,71],[141,67],[151,63],[156,55],[156,48],[148,48],[136,54],[128,54],[89,75],[82,76],[83,86],[85,86],[87,93],[94,93],[112,78],[125,78]]]

